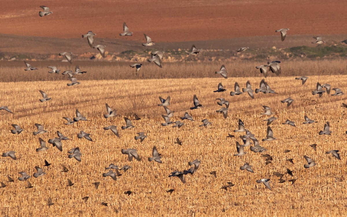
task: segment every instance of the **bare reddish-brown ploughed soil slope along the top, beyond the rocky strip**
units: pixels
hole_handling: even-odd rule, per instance
[[[53,11],[39,17],[45,5]],[[77,38],[92,30],[100,38],[144,41],[204,41],[246,36],[346,34],[344,0],[5,0],[0,33]],[[120,37],[126,22],[132,37]]]

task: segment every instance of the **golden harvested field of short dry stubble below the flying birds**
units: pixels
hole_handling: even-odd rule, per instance
[[[247,80],[254,90],[262,78],[83,80],[78,86],[66,86],[67,81],[0,83],[1,101],[6,102],[0,106],[8,106],[15,113],[0,111],[1,151],[13,150],[18,158],[3,157],[0,161],[0,181],[7,185],[0,190],[1,215],[341,216],[346,213],[347,121],[346,108],[340,107],[345,97],[331,96],[333,90],[321,98],[311,92],[316,82],[346,90],[347,76],[309,76],[304,85],[295,76],[268,77],[265,81],[278,94],[257,93],[255,99],[247,93],[230,96],[234,82],[242,88]],[[213,92],[219,82],[226,92]],[[39,90],[51,100],[41,103]],[[204,107],[189,111],[194,94]],[[158,97],[169,95],[169,108],[175,111],[171,121],[180,120],[185,111],[194,121],[181,120],[185,123],[181,128],[161,126],[164,119],[160,115],[166,112],[157,106]],[[215,112],[221,108],[215,99],[221,97],[230,102],[226,119]],[[280,102],[288,97],[294,99],[289,107]],[[103,117],[107,113],[105,103],[117,110],[116,117]],[[267,128],[263,120],[270,117],[260,115],[263,105],[269,106],[277,117],[270,124],[277,137],[274,141],[261,141]],[[63,117],[75,117],[76,109],[90,121],[65,125]],[[141,119],[134,120],[134,113]],[[303,124],[305,115],[318,123]],[[132,120],[135,128],[121,130],[125,126],[123,117]],[[212,125],[199,127],[202,119],[208,119]],[[233,132],[238,128],[238,119],[266,152],[255,153],[245,147],[246,155],[234,156],[236,142],[243,144],[239,136],[245,134]],[[287,119],[294,121],[296,127],[282,125]],[[331,135],[319,135],[327,121]],[[48,132],[34,136],[35,123]],[[20,125],[24,131],[11,134],[11,124]],[[120,137],[103,130],[109,125],[118,126]],[[56,131],[70,139],[62,141],[61,152],[48,143],[57,137]],[[80,131],[90,133],[94,142],[78,139]],[[138,132],[147,135],[143,142],[134,139]],[[235,137],[227,137],[228,133]],[[35,151],[40,147],[39,137],[48,150]],[[183,141],[182,145],[174,143],[177,137]],[[317,144],[316,151],[311,144]],[[162,164],[147,160],[152,157],[153,146],[161,153]],[[81,162],[68,158],[67,152],[76,147],[81,151]],[[128,148],[137,149],[141,161],[128,161],[128,156],[121,154],[121,149]],[[339,150],[341,160],[325,154],[329,150]],[[265,154],[270,157],[262,156]],[[316,165],[304,168],[307,164],[304,155]],[[200,167],[193,175],[184,175],[185,184],[178,177],[168,177],[175,170],[188,170],[188,162],[194,159],[201,161]],[[287,159],[293,159],[294,164]],[[44,160],[51,165],[43,167]],[[246,162],[253,166],[254,173],[239,169]],[[103,177],[109,164],[132,168],[126,172],[119,170],[121,176],[115,181]],[[69,171],[61,172],[62,165]],[[46,174],[34,178],[35,166],[43,168]],[[287,168],[293,177],[286,173]],[[26,188],[27,182],[17,179],[22,171],[32,176],[28,179],[32,188]],[[210,174],[212,171],[216,171],[217,177]],[[283,183],[273,175],[276,172],[283,174]],[[7,182],[7,176],[14,182]],[[262,178],[270,179],[272,191],[256,182]],[[67,186],[67,179],[74,185]],[[293,179],[297,179],[294,184],[289,181]],[[100,182],[98,189],[94,182]],[[227,182],[235,185],[222,189]],[[174,190],[171,194],[167,192],[170,189]],[[132,193],[127,195],[126,191]],[[89,197],[86,202],[82,200],[84,197]],[[47,206],[48,198],[54,205]],[[101,205],[102,202],[108,206]]]

